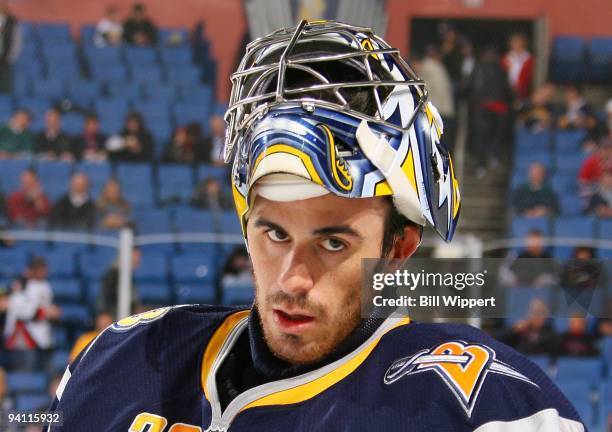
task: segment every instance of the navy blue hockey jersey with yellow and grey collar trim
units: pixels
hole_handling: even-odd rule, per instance
[[[69,366],[54,432],[583,431],[545,374],[480,330],[388,318],[319,369],[236,396],[215,376],[249,310],[157,309],[102,332]]]

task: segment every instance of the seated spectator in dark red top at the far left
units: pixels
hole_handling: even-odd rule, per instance
[[[51,204],[34,171],[21,173],[21,188],[9,196],[7,210],[9,219],[16,225],[33,228],[46,222]]]

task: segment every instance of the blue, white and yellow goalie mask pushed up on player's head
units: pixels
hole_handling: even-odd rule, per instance
[[[451,240],[460,197],[442,120],[371,30],[302,21],[250,43],[231,79],[225,161],[243,231],[255,193],[334,193],[392,196],[407,219]]]

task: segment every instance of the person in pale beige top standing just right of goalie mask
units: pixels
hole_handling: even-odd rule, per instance
[[[455,100],[450,76],[434,46],[426,49],[425,57],[415,64],[419,77],[427,83],[429,100],[444,119],[444,140],[452,148],[455,124]]]

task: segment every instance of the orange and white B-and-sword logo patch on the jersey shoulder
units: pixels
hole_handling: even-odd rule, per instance
[[[495,351],[488,346],[464,341],[445,342],[394,361],[385,373],[384,382],[390,385],[405,376],[423,372],[435,372],[442,378],[468,417],[472,415],[489,373],[505,375],[538,387],[525,375],[497,360]]]

